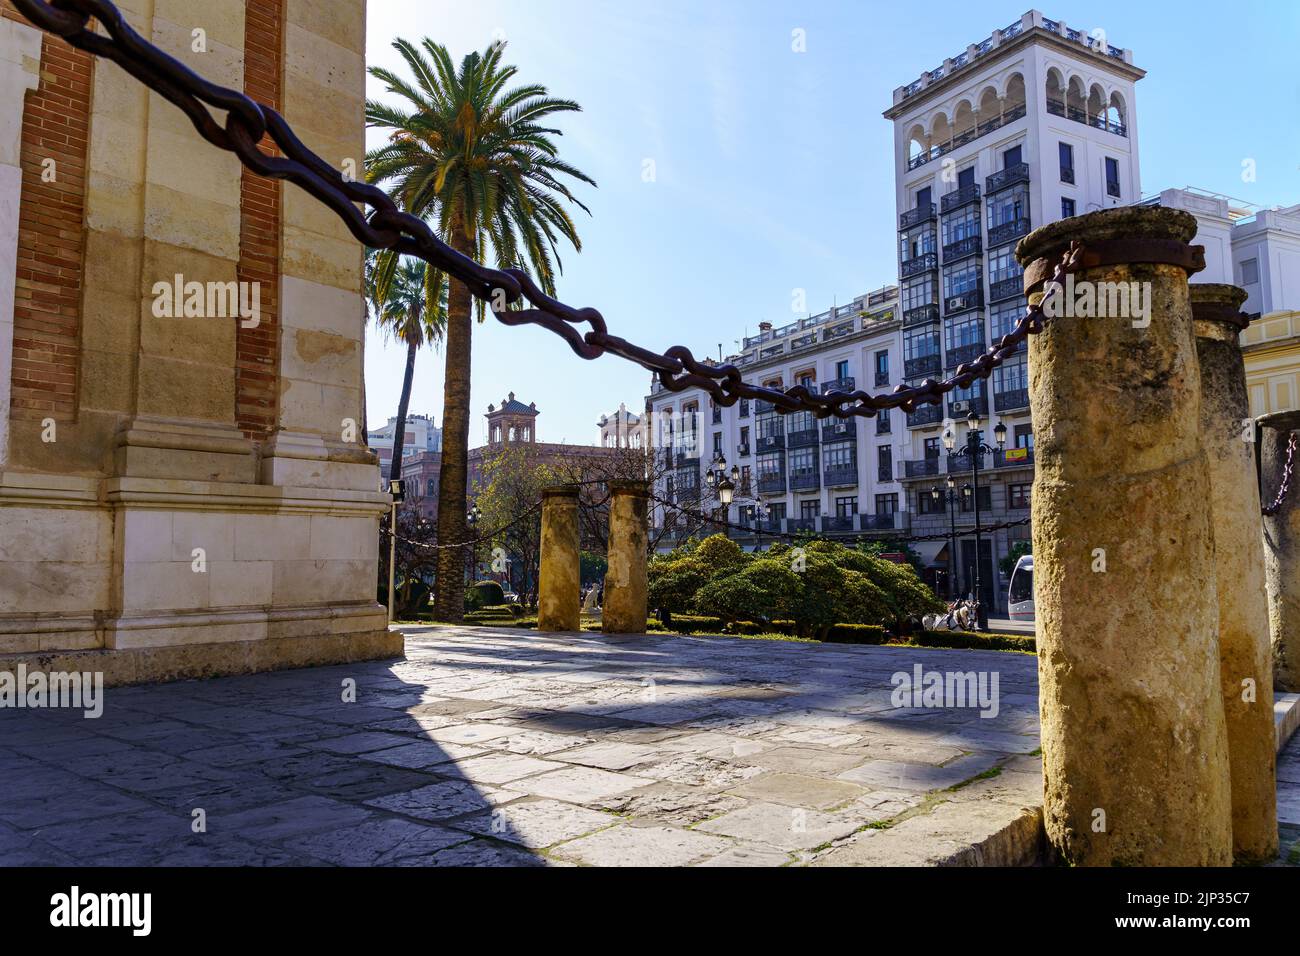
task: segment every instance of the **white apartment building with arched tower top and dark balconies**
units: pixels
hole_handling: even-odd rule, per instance
[[[768,338],[746,339],[744,354],[729,360],[746,381],[823,389],[852,378],[879,392],[952,375],[1023,313],[1014,258],[1020,237],[1140,198],[1135,83],[1143,75],[1131,51],[1100,30],[1031,10],[896,88],[884,112],[894,124],[898,212],[898,282],[889,290],[888,320],[871,320],[871,303],[859,298],[842,315],[764,330]],[[845,332],[828,336],[836,323]],[[1034,431],[1024,351],[989,380],[949,393],[941,406],[880,420],[768,419],[767,410],[742,403],[711,408],[701,390],[660,388],[647,410],[655,414],[655,438],[680,466],[673,490],[699,488],[699,475],[722,451],[728,467],[737,463],[744,473],[748,466],[753,479],[750,494],[737,493],[729,509],[733,522],[746,523],[762,502],[771,529],[950,535],[956,550],[948,540],[913,545],[941,593],[949,567],[956,589],[970,591],[976,559],[975,496],[963,493],[972,484],[971,462],[946,454],[945,428],[961,446],[971,411],[989,444],[993,427],[1006,425],[1008,450],[980,462],[979,523],[988,528],[1028,518]],[[671,437],[666,421],[676,423]],[[671,519],[662,511],[659,519]],[[1005,605],[998,559],[1028,535],[1028,524],[982,535],[987,606]]]

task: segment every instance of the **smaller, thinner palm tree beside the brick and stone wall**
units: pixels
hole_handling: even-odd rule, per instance
[[[402,397],[398,399],[398,418],[393,431],[393,460],[389,480],[402,477],[402,451],[406,445],[406,419],[411,405],[411,382],[415,380],[415,355],[420,346],[441,339],[446,324],[446,299],[430,295],[429,268],[420,259],[403,259],[380,252],[374,256],[367,277],[367,297],[373,303],[374,321],[386,334],[406,343],[407,363],[402,377]],[[389,281],[380,284],[378,274]]]

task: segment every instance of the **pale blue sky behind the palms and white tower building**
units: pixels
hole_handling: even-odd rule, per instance
[[[563,255],[559,295],[656,351],[734,351],[762,320],[894,281],[893,88],[1030,4],[852,0],[369,0],[369,64],[399,65],[394,36],[428,35],[455,59],[498,35],[524,82],[584,112],[562,155],[582,187],[584,251]],[[1295,0],[1066,3],[1048,17],[1134,51],[1143,191],[1199,186],[1260,206],[1300,202],[1300,40]],[[918,16],[923,14],[923,16]],[[792,49],[802,30],[806,52]],[[382,91],[370,81],[372,95]],[[376,144],[370,134],[370,144]],[[1256,181],[1243,182],[1253,159]],[[646,161],[654,181],[646,182]],[[649,373],[584,362],[549,332],[474,329],[471,444],[489,402],[536,402],[543,441],[594,444],[595,421],[640,410]],[[411,410],[442,420],[441,352],[420,355]],[[368,341],[368,414],[395,414],[403,354]]]

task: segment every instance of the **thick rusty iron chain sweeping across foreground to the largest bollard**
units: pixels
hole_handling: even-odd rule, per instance
[[[628,342],[610,333],[597,310],[573,308],[550,298],[525,272],[491,269],[458,252],[442,242],[428,222],[398,208],[382,189],[343,176],[307,148],[277,111],[237,90],[204,79],[142,38],[109,0],[13,3],[36,26],[79,49],[112,60],[176,104],[190,118],[199,135],[213,146],[235,153],[248,169],[260,176],[287,179],[306,190],[338,215],[363,245],[422,259],[454,276],[476,298],[489,303],[500,323],[532,324],[549,329],[584,359],[618,355],[654,372],[670,392],[699,388],[722,406],[749,398],[771,402],[783,414],[811,411],[819,419],[832,415],[874,416],[887,408],[911,412],[918,405],[939,403],[953,389],[965,389],[978,378],[987,378],[1015,352],[1020,342],[1043,329],[1041,307],[1030,307],[1010,333],[983,355],[958,365],[952,377],[927,378],[919,385],[898,385],[889,394],[872,395],[862,390],[814,394],[802,385],[786,390],[753,385],[741,380],[736,365],[701,362],[685,346],[672,346],[660,354]],[[107,36],[90,26],[91,18],[99,21]],[[224,126],[213,117],[209,107],[226,113]],[[278,147],[280,156],[270,156],[259,148],[259,143],[268,135]],[[365,215],[358,204],[370,207],[372,212]],[[1072,245],[1056,265],[1049,281],[1063,282],[1066,273],[1074,271],[1082,255],[1082,247]],[[499,308],[500,302],[512,307]],[[529,307],[520,307],[525,302]],[[576,326],[584,324],[589,328],[580,332]]]

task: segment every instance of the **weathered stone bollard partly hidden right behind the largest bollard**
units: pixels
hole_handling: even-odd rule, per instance
[[[1238,864],[1257,864],[1278,855],[1278,806],[1254,423],[1239,343],[1249,319],[1240,311],[1244,289],[1193,282],[1188,291],[1201,369],[1201,447],[1210,475],[1232,856]]]

